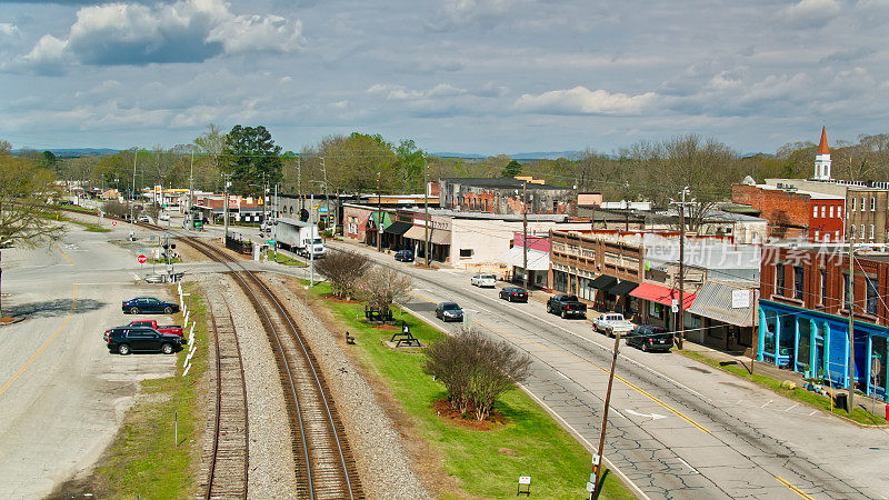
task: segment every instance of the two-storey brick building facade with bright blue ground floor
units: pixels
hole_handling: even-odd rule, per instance
[[[848,293],[849,256],[843,246],[763,249],[757,359],[817,380],[855,386],[886,397],[889,323],[889,256],[857,254]],[[853,342],[849,343],[849,313]]]

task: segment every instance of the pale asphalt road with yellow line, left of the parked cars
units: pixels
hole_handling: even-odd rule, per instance
[[[0,327],[0,498],[41,498],[89,470],[139,381],[173,373],[176,357],[110,354],[102,340],[132,319],[121,300],[164,297],[137,280],[140,246],[126,237],[71,226],[47,247],[3,250],[3,311],[28,319]]]

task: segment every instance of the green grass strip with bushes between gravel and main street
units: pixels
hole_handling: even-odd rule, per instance
[[[387,348],[393,330],[363,323],[363,304],[328,301],[327,283],[311,289],[313,306],[332,312],[356,338],[353,351],[366,371],[382,381],[416,423],[418,434],[440,456],[443,472],[456,478],[462,492],[440,491],[442,498],[466,494],[483,498],[515,498],[520,476],[531,477],[531,496],[538,498],[582,498],[590,474],[591,454],[550,416],[519,389],[507,392],[495,406],[505,423],[477,430],[440,418],[432,403],[444,399],[444,387],[422,372],[424,357]],[[403,319],[411,333],[428,346],[444,333],[408,311],[393,308],[396,321]],[[473,417],[467,416],[468,422]],[[629,490],[607,471],[599,498],[631,499]]]

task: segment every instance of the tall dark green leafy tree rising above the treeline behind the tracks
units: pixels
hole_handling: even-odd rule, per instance
[[[262,126],[234,126],[226,134],[222,156],[236,194],[259,196],[263,181],[272,186],[283,178],[281,147]]]

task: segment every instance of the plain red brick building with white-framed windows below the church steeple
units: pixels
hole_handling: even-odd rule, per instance
[[[805,238],[812,242],[843,239],[842,197],[780,186],[732,184],[731,201],[759,210],[760,217],[769,221],[770,238]]]

